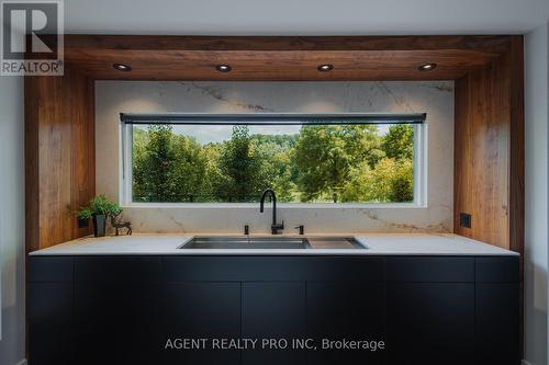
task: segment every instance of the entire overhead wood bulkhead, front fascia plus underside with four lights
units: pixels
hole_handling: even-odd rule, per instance
[[[455,80],[508,49],[507,36],[190,37],[67,35],[65,60],[101,80]],[[113,64],[132,67],[131,72]],[[417,67],[435,62],[433,71]],[[228,64],[222,73],[215,65]],[[320,72],[321,64],[334,65]]]

